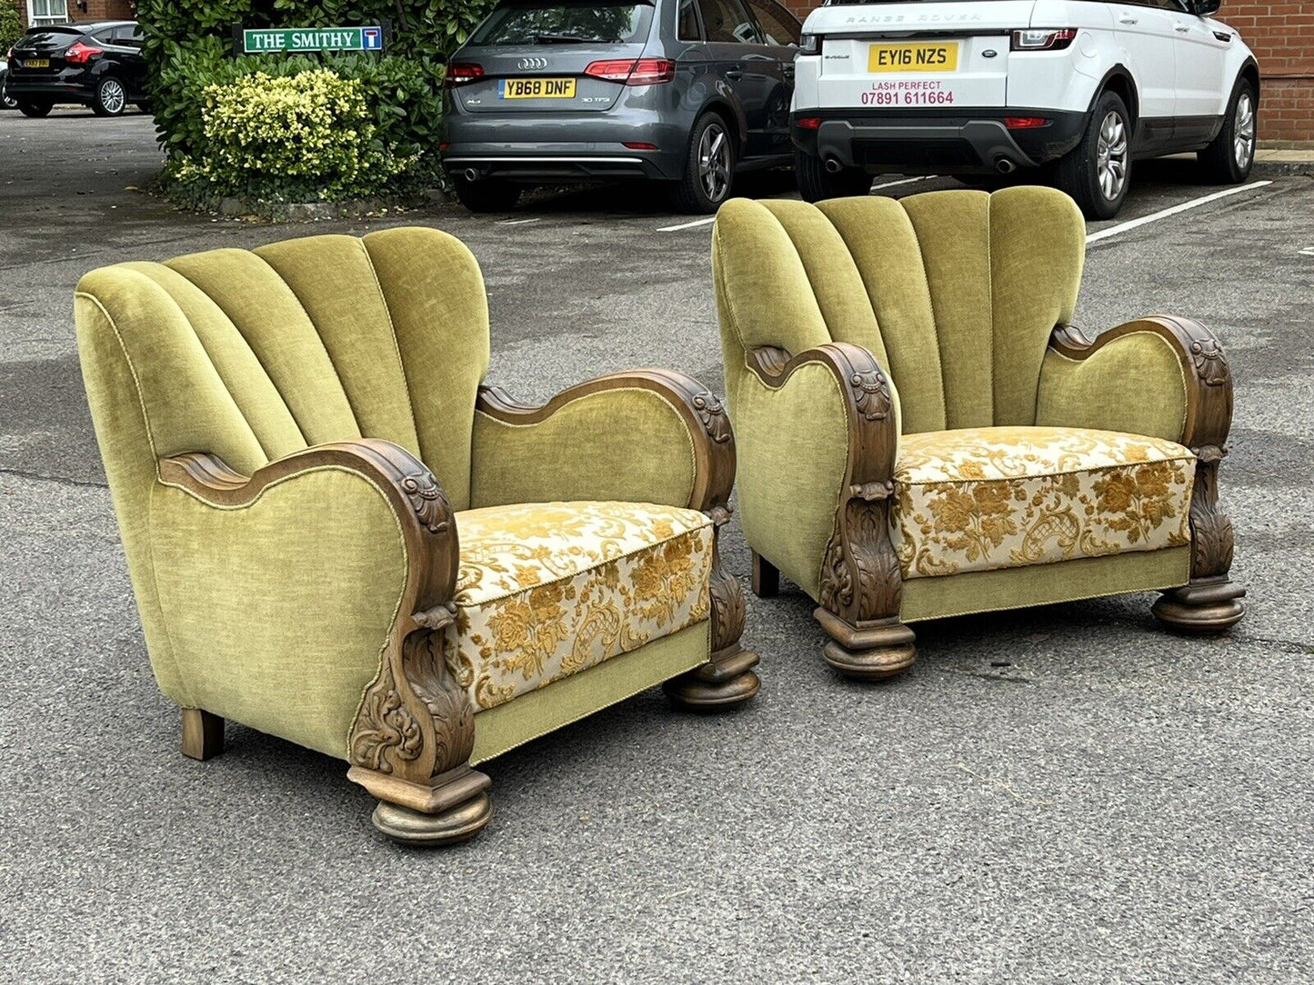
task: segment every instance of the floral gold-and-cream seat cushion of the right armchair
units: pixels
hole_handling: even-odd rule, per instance
[[[1155,437],[1055,427],[904,435],[894,542],[904,578],[1190,542],[1194,456]]]

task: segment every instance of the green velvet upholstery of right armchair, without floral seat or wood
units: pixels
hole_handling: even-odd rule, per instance
[[[1055,326],[1071,323],[1084,255],[1080,211],[1047,188],[727,202],[712,269],[753,549],[817,598],[848,456],[832,374],[804,366],[771,389],[749,369],[757,347],[866,348],[890,378],[903,435],[1047,424],[1180,440],[1185,386],[1163,339],[1129,336],[1085,364],[1049,349]],[[1146,387],[1147,377],[1162,386]],[[1180,552],[1159,553],[1173,559],[918,579],[905,584],[904,609],[928,619],[1076,598],[1079,573],[1096,567],[1088,595],[1184,583]]]

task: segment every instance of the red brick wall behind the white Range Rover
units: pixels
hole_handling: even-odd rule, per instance
[[[820,5],[784,4],[800,20]],[[1259,60],[1259,139],[1314,147],[1314,0],[1223,0],[1217,17],[1240,32]]]

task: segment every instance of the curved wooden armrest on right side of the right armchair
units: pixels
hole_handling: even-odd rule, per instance
[[[1058,326],[1050,348],[1067,359],[1083,361],[1129,335],[1148,332],[1166,340],[1181,364],[1187,386],[1187,419],[1181,444],[1197,456],[1223,454],[1231,428],[1231,369],[1212,331],[1189,318],[1151,315],[1138,318],[1087,338],[1075,326]]]

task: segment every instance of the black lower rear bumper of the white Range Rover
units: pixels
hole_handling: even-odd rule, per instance
[[[816,129],[799,117],[820,118]],[[1009,129],[1005,117],[1043,117]],[[1062,158],[1081,141],[1085,113],[1046,109],[803,110],[791,114],[794,143],[823,160],[871,172],[995,173]]]

